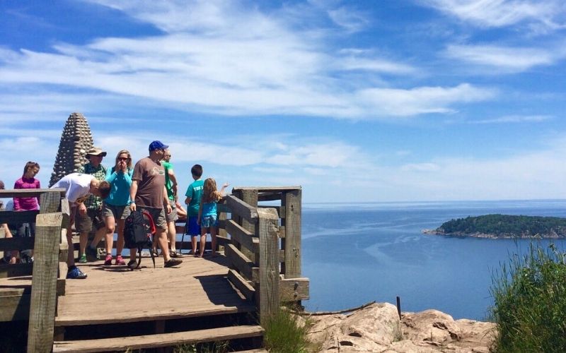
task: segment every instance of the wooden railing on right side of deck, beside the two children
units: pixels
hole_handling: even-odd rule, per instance
[[[264,201],[280,203],[258,205]],[[260,323],[282,302],[308,299],[308,278],[301,277],[301,187],[234,188],[225,206],[219,209],[231,218],[221,222],[218,243],[231,262],[229,280],[255,302]]]

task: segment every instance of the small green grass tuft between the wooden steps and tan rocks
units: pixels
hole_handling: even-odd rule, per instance
[[[300,325],[291,312],[279,310],[263,325],[265,349],[277,353],[317,352],[306,336],[309,325],[308,321]]]

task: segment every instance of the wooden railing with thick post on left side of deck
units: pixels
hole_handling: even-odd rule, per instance
[[[25,320],[29,313],[28,352],[51,352],[57,297],[67,275],[69,203],[64,189],[4,190],[0,198],[40,196],[41,210],[3,211],[0,223],[35,222],[35,237],[0,239],[0,251],[33,249],[33,263],[0,265],[0,277],[32,275],[29,289],[0,303],[0,321]],[[29,303],[29,304],[28,304]],[[23,308],[25,306],[25,308]],[[29,310],[25,310],[29,308]]]

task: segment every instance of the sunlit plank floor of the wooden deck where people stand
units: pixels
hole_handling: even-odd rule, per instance
[[[81,264],[86,280],[67,280],[59,297],[56,326],[155,321],[255,311],[229,283],[226,258],[185,256],[178,268],[156,268],[144,258],[141,270]]]

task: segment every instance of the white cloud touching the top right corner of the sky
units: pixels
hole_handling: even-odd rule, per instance
[[[563,28],[566,7],[562,0],[417,0],[479,27],[536,23],[548,30]]]

